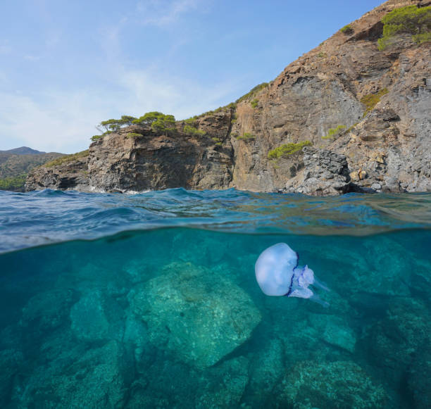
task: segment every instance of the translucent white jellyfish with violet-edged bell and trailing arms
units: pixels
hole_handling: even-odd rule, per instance
[[[322,306],[329,303],[314,294],[309,285],[330,291],[320,282],[308,265],[298,265],[299,254],[285,243],[274,244],[264,250],[256,261],[256,280],[267,296],[308,298]]]

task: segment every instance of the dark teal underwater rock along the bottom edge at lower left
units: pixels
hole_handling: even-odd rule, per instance
[[[74,356],[71,364],[60,359],[38,367],[15,391],[13,408],[123,408],[131,367],[120,344],[110,341]]]

